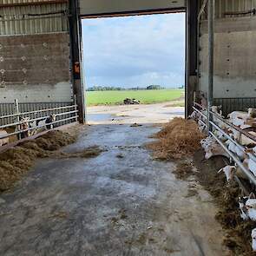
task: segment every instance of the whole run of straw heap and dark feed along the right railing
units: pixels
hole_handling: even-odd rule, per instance
[[[175,124],[177,128],[174,128]],[[189,127],[188,134],[193,139],[183,135],[183,127]],[[178,130],[180,130],[180,134]],[[174,171],[176,178],[187,180],[190,176],[193,176],[213,196],[213,200],[219,208],[215,218],[226,230],[223,244],[230,250],[231,255],[256,255],[256,253],[253,253],[251,246],[251,232],[256,227],[256,223],[252,220],[242,220],[240,217],[239,197],[242,195],[240,187],[236,182],[227,184],[225,174],[218,174],[218,170],[226,166],[222,157],[217,156],[208,161],[204,160],[203,150],[199,149],[200,146],[198,145],[201,135],[198,134],[198,128],[195,124],[176,119],[168,123],[154,137],[158,138],[158,141],[154,142],[156,146],[151,148],[154,148],[156,154],[161,153],[161,157],[158,158],[161,160],[175,158],[177,160],[176,170]],[[176,145],[174,141],[177,138],[183,140],[181,144]],[[184,150],[185,147],[189,149]],[[176,152],[174,152],[174,149]],[[181,159],[182,155],[190,155],[193,151],[196,151],[196,153],[191,161],[189,158]],[[196,194],[195,191],[188,191],[187,197],[194,194]]]

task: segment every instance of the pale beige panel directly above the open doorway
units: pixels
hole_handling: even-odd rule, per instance
[[[79,0],[79,3],[81,16],[182,10],[185,8],[185,0]]]

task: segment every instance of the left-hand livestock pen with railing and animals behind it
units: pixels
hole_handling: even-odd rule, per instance
[[[6,104],[4,104],[6,107]],[[43,130],[49,130],[77,121],[78,110],[76,101],[73,104],[56,108],[37,108],[32,111],[21,111],[20,104],[16,100],[9,104],[8,114],[0,115],[0,141],[1,146],[10,141],[16,141],[40,134]],[[22,105],[22,107],[24,107]],[[54,115],[54,119],[50,117]],[[47,121],[48,120],[48,121]],[[43,122],[42,122],[43,121]]]

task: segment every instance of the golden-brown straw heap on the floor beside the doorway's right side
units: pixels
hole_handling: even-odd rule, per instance
[[[149,143],[147,148],[154,149],[154,157],[160,160],[181,159],[193,155],[203,137],[195,121],[175,117],[154,135],[158,141]]]

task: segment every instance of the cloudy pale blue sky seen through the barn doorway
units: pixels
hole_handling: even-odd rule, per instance
[[[86,86],[177,88],[185,83],[185,14],[82,21]]]

